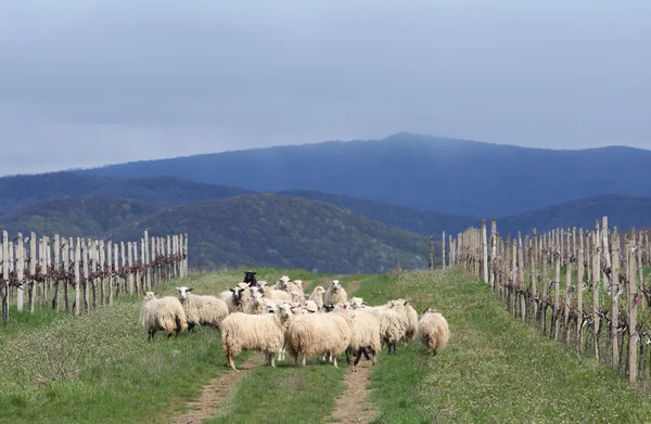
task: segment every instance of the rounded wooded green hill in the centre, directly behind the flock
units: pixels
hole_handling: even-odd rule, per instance
[[[255,194],[166,207],[105,234],[133,240],[188,233],[192,266],[277,266],[383,272],[427,266],[429,239],[302,197]]]

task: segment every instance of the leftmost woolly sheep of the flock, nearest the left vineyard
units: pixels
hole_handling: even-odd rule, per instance
[[[176,335],[188,327],[186,311],[179,299],[173,296],[156,298],[154,292],[146,292],[140,310],[140,325],[148,333],[148,341],[154,339],[158,330],[167,332],[167,338],[176,332]]]

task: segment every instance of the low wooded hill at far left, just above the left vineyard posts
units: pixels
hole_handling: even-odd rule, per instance
[[[36,202],[0,217],[10,234],[34,231],[38,235],[101,236],[127,222],[158,210],[158,206],[122,197],[58,197]]]

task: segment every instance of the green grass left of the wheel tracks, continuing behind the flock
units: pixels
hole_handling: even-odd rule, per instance
[[[257,270],[258,279],[315,278],[307,271]],[[297,277],[299,275],[299,277]],[[217,294],[242,281],[242,271],[190,275],[156,287],[175,295],[177,285]],[[138,325],[140,297],[122,296],[88,314],[37,308],[12,310],[0,331],[0,423],[161,422],[171,404],[199,396],[201,387],[228,372],[219,333],[200,329],[154,343]],[[247,354],[237,358],[242,363]]]

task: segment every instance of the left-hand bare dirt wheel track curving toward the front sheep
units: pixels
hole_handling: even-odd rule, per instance
[[[187,404],[188,408],[190,408],[188,412],[178,416],[176,421],[170,422],[175,424],[197,424],[215,416],[219,411],[219,408],[222,407],[224,399],[230,389],[238,384],[242,377],[258,367],[263,360],[264,358],[261,355],[253,352],[246,362],[238,367],[240,372],[229,369],[218,377],[213,378],[204,386],[199,399]]]

